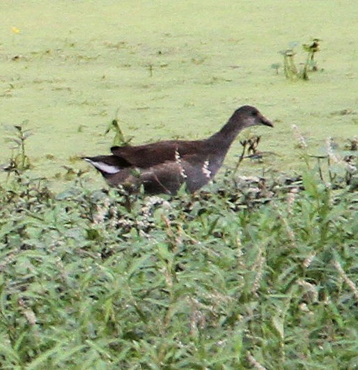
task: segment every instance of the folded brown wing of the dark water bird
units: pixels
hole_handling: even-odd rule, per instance
[[[140,146],[113,146],[111,152],[132,166],[148,168],[166,161],[175,161],[176,153],[180,157],[198,154],[205,149],[202,140],[196,141],[159,141]]]

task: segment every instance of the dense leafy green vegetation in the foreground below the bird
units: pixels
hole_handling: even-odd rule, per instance
[[[1,369],[356,369],[357,179],[315,173],[172,198],[15,176]]]

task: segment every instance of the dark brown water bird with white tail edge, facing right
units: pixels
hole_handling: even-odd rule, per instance
[[[227,123],[207,139],[165,140],[139,146],[112,146],[111,155],[82,157],[98,169],[112,187],[122,185],[129,192],[176,194],[185,183],[196,192],[215,177],[231,144],[244,128],[273,127],[256,107],[244,105]]]

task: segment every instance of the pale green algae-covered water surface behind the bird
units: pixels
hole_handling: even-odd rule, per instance
[[[355,1],[2,1],[0,5],[0,163],[6,126],[29,121],[34,174],[65,181],[70,159],[104,154],[118,110],[132,144],[197,139],[218,130],[240,105],[276,123],[256,128],[275,155],[244,171],[299,165],[291,126],[312,153],[327,137],[338,147],[358,134]],[[320,38],[318,72],[291,82],[273,63],[279,51]],[[238,141],[226,160],[240,154]],[[88,181],[100,180],[95,170]],[[102,180],[101,180],[102,181]]]

